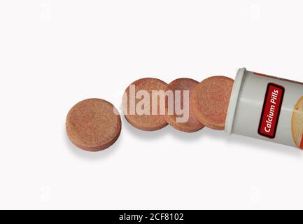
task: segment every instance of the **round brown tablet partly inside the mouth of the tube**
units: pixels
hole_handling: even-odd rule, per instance
[[[200,123],[214,130],[224,130],[234,80],[213,76],[199,83],[190,97],[190,107]]]

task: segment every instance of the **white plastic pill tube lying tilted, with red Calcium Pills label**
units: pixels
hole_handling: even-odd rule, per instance
[[[225,132],[303,149],[303,83],[239,69]]]

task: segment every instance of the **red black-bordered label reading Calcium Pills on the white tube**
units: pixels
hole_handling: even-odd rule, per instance
[[[285,89],[281,85],[269,83],[265,94],[258,133],[274,139],[278,127]]]

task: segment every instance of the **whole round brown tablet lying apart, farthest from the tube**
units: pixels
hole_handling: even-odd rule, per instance
[[[121,119],[113,104],[85,99],[69,111],[66,132],[71,142],[85,151],[101,151],[113,145],[121,132]]]

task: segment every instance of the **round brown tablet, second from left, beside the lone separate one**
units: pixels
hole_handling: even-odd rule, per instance
[[[164,91],[167,83],[157,78],[141,78],[134,81],[123,97],[126,120],[143,131],[160,130],[167,126]]]

